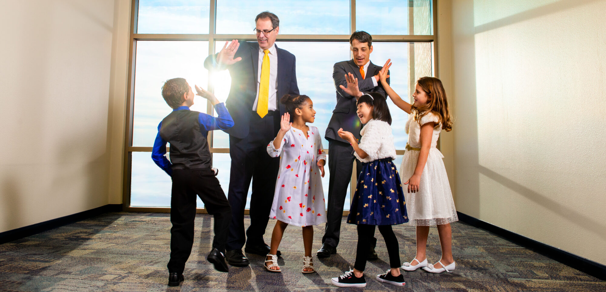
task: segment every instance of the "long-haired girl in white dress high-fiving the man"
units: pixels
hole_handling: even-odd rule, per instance
[[[385,66],[391,66],[387,60]],[[387,70],[385,70],[387,72]],[[435,77],[421,77],[416,83],[415,103],[402,100],[386,81],[387,74],[379,73],[381,84],[393,103],[410,114],[406,123],[408,143],[400,166],[400,176],[408,184],[404,193],[409,224],[416,226],[416,256],[405,262],[402,269],[414,271],[423,268],[430,273],[454,270],[452,233],[450,223],[459,218],[454,209],[453,196],[448,184],[446,168],[436,143],[442,129],[451,131],[448,102],[442,82]],[[425,248],[431,225],[438,226],[442,258],[435,264],[427,264]]]

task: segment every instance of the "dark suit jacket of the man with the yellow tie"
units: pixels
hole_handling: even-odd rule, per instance
[[[280,114],[286,112],[286,108],[280,99],[284,94],[299,94],[295,68],[295,55],[287,50],[282,50],[276,45],[278,55],[278,76],[276,103]],[[212,54],[204,60],[204,68],[216,70],[216,56]],[[225,130],[236,138],[244,138],[250,129],[250,115],[253,114],[253,103],[257,95],[257,76],[259,68],[259,44],[257,42],[240,42],[240,47],[234,56],[242,57],[242,60],[227,67],[231,76],[231,87],[225,107],[233,118],[234,125]]]

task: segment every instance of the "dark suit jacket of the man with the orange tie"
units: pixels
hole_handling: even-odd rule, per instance
[[[373,80],[371,79],[374,78],[373,76],[379,73],[381,68],[383,67],[379,67],[373,64],[373,62],[370,62],[367,73],[364,76],[366,78],[362,79],[360,67],[356,65],[353,59],[335,63],[335,66],[333,66],[333,80],[335,80],[335,89],[337,91],[337,104],[333,110],[333,115],[330,118],[330,122],[328,122],[328,127],[326,128],[326,133],[324,134],[325,138],[349,143],[341,139],[339,134],[337,134],[339,128],[343,128],[344,131],[351,132],[356,139],[360,139],[360,130],[362,129],[362,124],[360,123],[358,114],[356,114],[356,111],[358,111],[358,107],[356,106],[356,98],[345,93],[343,89],[339,87],[339,85],[347,87],[345,74],[351,72],[351,74],[358,78],[358,87],[360,91],[364,93],[381,92],[381,94],[387,96],[381,82],[378,82],[379,85],[375,87],[375,85],[373,85]],[[389,72],[387,74],[389,74]],[[387,79],[387,83],[389,83],[389,78]]]

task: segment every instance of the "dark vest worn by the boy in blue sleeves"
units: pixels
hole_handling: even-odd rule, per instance
[[[200,132],[199,112],[173,111],[162,120],[160,137],[170,143],[170,162],[175,169],[210,168],[207,139]]]

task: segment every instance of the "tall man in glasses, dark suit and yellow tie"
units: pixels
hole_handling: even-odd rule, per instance
[[[248,265],[242,253],[265,256],[269,246],[263,235],[269,219],[278,177],[279,158],[267,155],[267,143],[280,129],[281,114],[286,112],[279,100],[285,94],[299,94],[295,56],[274,44],[279,19],[268,11],[255,18],[257,42],[225,42],[218,54],[204,61],[208,70],[227,69],[231,88],[225,105],[233,117],[230,135],[231,173],[227,199],[232,219],[227,236],[225,258],[230,265]],[[248,186],[253,181],[250,199],[250,226],[244,232],[244,207]],[[280,251],[278,251],[280,255]]]

